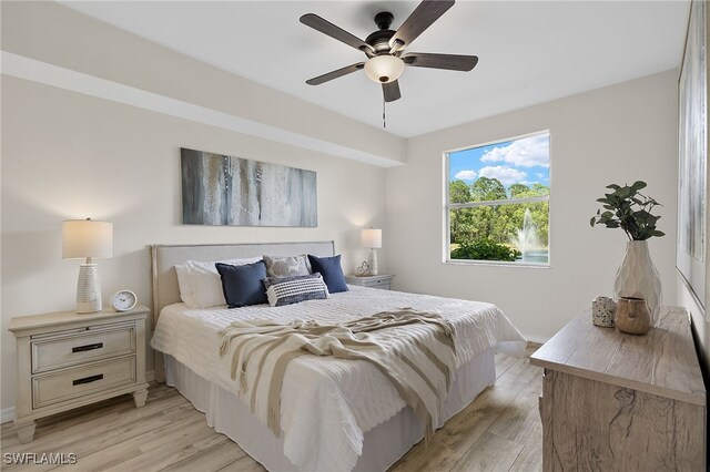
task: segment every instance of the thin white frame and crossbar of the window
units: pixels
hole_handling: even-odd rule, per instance
[[[449,155],[453,153],[457,153],[460,151],[473,150],[477,147],[490,146],[494,144],[508,143],[511,141],[524,140],[526,137],[539,136],[542,134],[547,134],[549,141],[549,184],[547,185],[549,188],[549,195],[539,196],[539,197],[529,197],[529,198],[509,198],[509,199],[496,199],[496,201],[481,201],[481,202],[468,202],[468,203],[450,203],[450,158]],[[443,263],[452,264],[452,265],[478,265],[478,266],[503,266],[503,267],[526,267],[526,268],[539,268],[539,269],[548,269],[552,266],[552,205],[551,205],[551,195],[552,195],[552,133],[550,130],[540,130],[531,133],[519,134],[514,137],[507,137],[501,140],[489,141],[481,144],[474,144],[464,147],[457,147],[454,150],[448,150],[443,153],[444,161],[444,244],[443,244]],[[452,238],[452,220],[450,220],[450,212],[453,209],[459,208],[475,208],[478,206],[501,206],[501,205],[519,205],[526,203],[536,203],[536,202],[547,202],[548,212],[547,212],[547,220],[548,220],[548,234],[547,234],[547,263],[532,263],[532,261],[507,261],[507,260],[485,260],[485,259],[452,259],[450,255],[450,238]]]

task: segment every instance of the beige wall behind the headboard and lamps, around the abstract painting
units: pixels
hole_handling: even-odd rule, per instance
[[[334,239],[352,273],[366,257],[359,229],[385,225],[383,168],[8,76],[1,93],[2,409],[14,404],[9,319],[74,307],[63,219],[114,223],[114,257],[99,261],[104,304],[129,288],[148,306],[150,244]],[[318,227],[181,225],[181,146],[317,172]]]

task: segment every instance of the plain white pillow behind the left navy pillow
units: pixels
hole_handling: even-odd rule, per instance
[[[224,290],[222,289],[222,278],[214,265],[222,263],[243,266],[258,260],[262,260],[262,258],[247,257],[212,263],[187,260],[184,265],[175,266],[178,284],[180,285],[180,298],[190,308],[210,308],[226,305]]]

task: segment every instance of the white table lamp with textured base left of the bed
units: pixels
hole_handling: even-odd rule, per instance
[[[87,259],[79,267],[77,312],[101,311],[99,266],[93,258],[113,257],[113,223],[68,219],[62,223],[62,258]]]

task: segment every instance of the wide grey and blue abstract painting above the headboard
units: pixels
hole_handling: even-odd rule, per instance
[[[317,226],[316,173],[181,148],[185,225]]]

